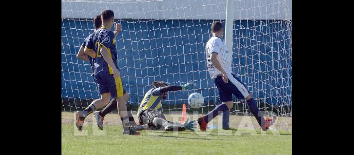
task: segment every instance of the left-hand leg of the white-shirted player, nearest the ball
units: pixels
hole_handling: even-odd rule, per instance
[[[217,105],[212,111],[206,114],[204,117],[198,119],[199,127],[201,131],[206,130],[206,125],[217,115],[221,114],[224,111],[227,111],[233,107],[232,94],[228,90],[227,83],[224,83],[222,76],[217,76],[214,79],[215,85],[219,90],[220,105]]]

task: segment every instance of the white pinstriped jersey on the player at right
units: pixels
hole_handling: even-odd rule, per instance
[[[220,74],[219,71],[211,62],[211,54],[217,53],[217,59],[220,62],[221,67],[224,69],[226,73],[232,73],[231,70],[231,62],[232,62],[232,52],[230,52],[221,38],[217,36],[212,36],[205,46],[206,53],[206,65],[208,67],[208,71],[211,78],[216,78],[217,74]]]

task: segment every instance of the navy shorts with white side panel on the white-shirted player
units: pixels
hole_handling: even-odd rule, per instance
[[[232,94],[239,100],[245,99],[250,94],[250,91],[247,90],[245,85],[235,74],[228,73],[227,76],[229,78],[228,83],[222,80],[222,76],[217,76],[217,78],[214,79],[214,83],[219,90],[220,101],[232,101]]]

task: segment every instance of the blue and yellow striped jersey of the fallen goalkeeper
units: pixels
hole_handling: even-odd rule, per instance
[[[161,114],[162,110],[162,102],[161,102],[161,95],[160,93],[160,88],[161,87],[155,87],[150,89],[147,93],[145,93],[143,101],[141,101],[141,104],[139,105],[138,113],[137,116],[141,114],[145,109],[151,108],[155,109],[156,111]]]

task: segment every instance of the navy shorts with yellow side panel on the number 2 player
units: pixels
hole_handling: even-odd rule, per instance
[[[110,93],[111,97],[120,97],[126,93],[122,78],[114,78],[113,74],[109,75],[94,75],[93,79],[98,85],[99,94]]]

